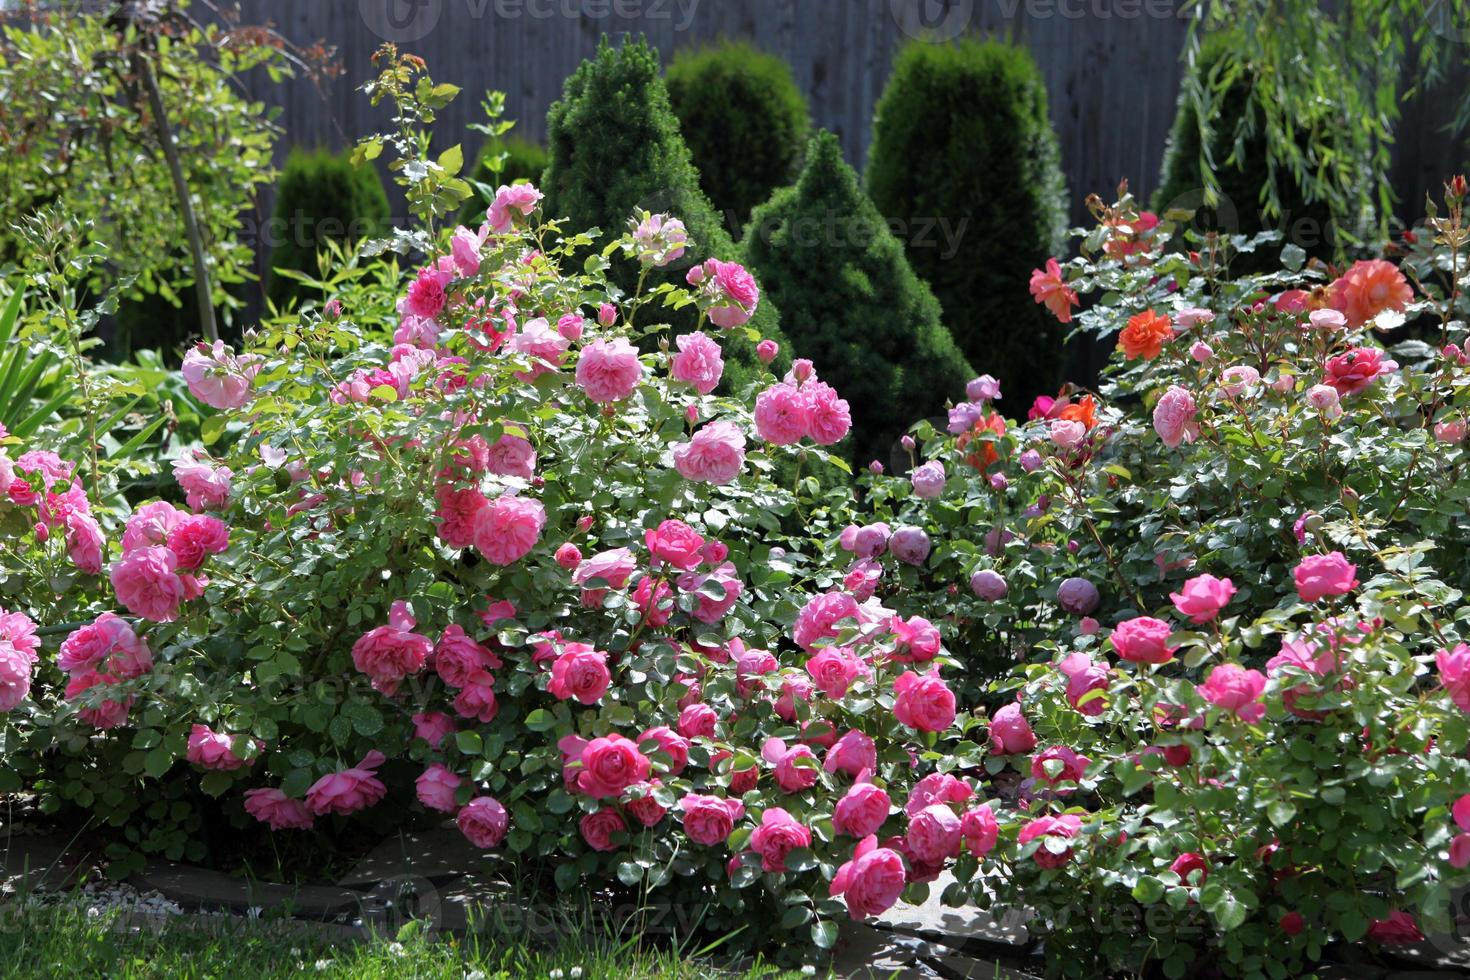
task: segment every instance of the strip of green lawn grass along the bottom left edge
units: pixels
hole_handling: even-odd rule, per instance
[[[76,902],[0,905],[0,964],[9,980],[112,977],[204,980],[213,977],[366,977],[369,980],[775,979],[769,967],[722,967],[698,952],[679,955],[600,939],[588,929],[559,946],[491,934],[429,934],[410,923],[397,939],[341,939],[290,921],[181,917],[156,920],[88,914]],[[717,952],[710,954],[716,956]]]

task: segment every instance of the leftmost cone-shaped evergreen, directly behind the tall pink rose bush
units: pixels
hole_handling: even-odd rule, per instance
[[[616,48],[603,38],[597,56],[578,66],[547,116],[547,151],[551,162],[541,188],[544,213],[569,219],[569,229],[619,234],[639,210],[667,212],[684,222],[692,247],[678,262],[656,270],[650,282],[666,281],[660,275],[682,279],[689,266],[711,256],[739,260],[739,248],[700,190],[700,176],[659,76],[659,53],[642,38],[626,40]],[[632,292],[638,284],[637,263],[620,256],[612,262],[613,281]],[[657,307],[648,316],[684,334],[694,329],[697,310],[692,304],[682,310]],[[719,331],[729,389],[738,389],[760,369],[751,332],[781,344],[782,357],[789,350],[776,304],[761,295],[744,328]]]

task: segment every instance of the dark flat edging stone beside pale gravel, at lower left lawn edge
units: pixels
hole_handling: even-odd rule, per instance
[[[160,892],[184,908],[235,912],[279,909],[294,918],[319,921],[356,915],[363,901],[362,893],[343,887],[254,882],[172,861],[150,861],[128,880],[140,889]]]

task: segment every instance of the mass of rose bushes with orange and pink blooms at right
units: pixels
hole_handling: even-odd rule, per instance
[[[960,696],[989,702],[988,793],[1016,808],[945,898],[1036,909],[1053,973],[1302,976],[1333,942],[1446,932],[1470,877],[1463,195],[1402,270],[1332,282],[1299,250],[1222,278],[1200,237],[1100,204],[1083,257],[1036,275],[1058,309],[1094,295],[1101,389],[1022,425],[960,406],[911,480],[864,488],[860,526],[932,554],[857,527],[845,551],[956,624],[966,682],[998,676]],[[1419,316],[1452,344],[1370,335]]]

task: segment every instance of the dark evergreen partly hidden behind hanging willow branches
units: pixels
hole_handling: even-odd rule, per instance
[[[1254,237],[1277,229],[1282,239],[1305,250],[1308,256],[1332,259],[1354,234],[1361,232],[1360,215],[1333,216],[1332,203],[1313,187],[1310,197],[1291,170],[1274,172],[1269,134],[1258,100],[1266,91],[1258,87],[1252,66],[1232,68],[1232,51],[1239,46],[1235,31],[1213,34],[1195,56],[1192,75],[1179,94],[1179,109],[1164,151],[1154,210],[1197,210],[1210,219],[1210,226],[1227,234]],[[1214,116],[1201,125],[1195,87],[1216,91],[1211,101]],[[1302,153],[1355,160],[1364,182],[1372,179],[1372,166],[1361,147],[1342,125],[1341,106],[1316,103],[1314,116],[1298,119],[1297,141]],[[1208,134],[1208,144],[1201,135]],[[1207,176],[1217,190],[1207,195]],[[1214,201],[1213,204],[1210,201]],[[1204,226],[1204,225],[1201,225]],[[1348,235],[1338,235],[1342,228]],[[1238,272],[1261,272],[1276,267],[1274,248],[1242,254]]]

